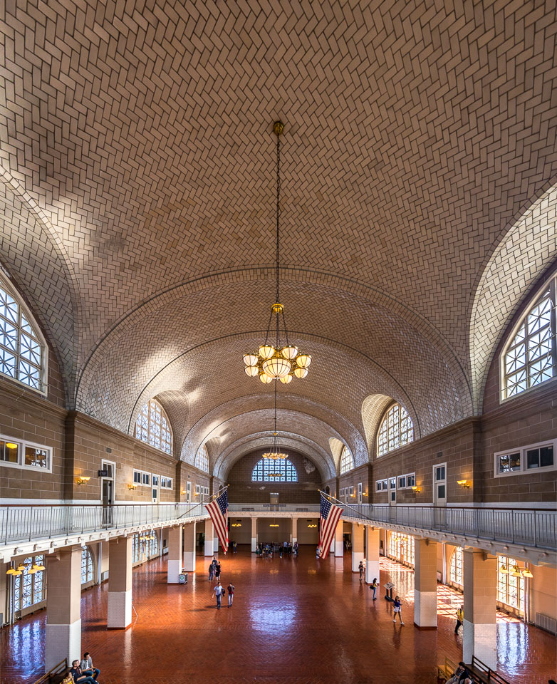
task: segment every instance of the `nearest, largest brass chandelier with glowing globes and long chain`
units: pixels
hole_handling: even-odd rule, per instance
[[[298,347],[288,342],[288,330],[284,318],[284,306],[280,304],[279,298],[279,223],[281,216],[281,133],[283,123],[276,121],[273,131],[276,134],[276,284],[275,284],[275,304],[271,306],[271,316],[267,324],[267,334],[265,343],[262,344],[257,353],[244,354],[247,375],[251,378],[259,376],[262,383],[268,384],[272,380],[280,380],[281,383],[288,385],[292,378],[305,378],[308,374],[308,367],[311,363],[309,354],[301,353]],[[276,316],[276,326],[273,326],[275,333],[274,346],[269,343],[271,337],[271,322],[273,314]],[[283,338],[286,344],[281,346],[281,318]]]

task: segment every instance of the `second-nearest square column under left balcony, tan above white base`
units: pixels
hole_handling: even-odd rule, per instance
[[[133,537],[108,542],[108,629],[125,629],[132,622]]]

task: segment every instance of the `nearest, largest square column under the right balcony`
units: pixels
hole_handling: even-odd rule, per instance
[[[497,559],[479,549],[464,549],[464,622],[462,660],[475,655],[492,670],[497,668],[496,586]]]

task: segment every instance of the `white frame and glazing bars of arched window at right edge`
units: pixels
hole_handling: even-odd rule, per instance
[[[506,354],[509,352],[509,348],[513,345],[514,339],[516,338],[517,334],[519,333],[519,330],[521,326],[524,324],[528,316],[531,314],[532,309],[535,309],[536,306],[538,306],[539,301],[541,300],[541,297],[546,289],[549,288],[549,293],[550,293],[550,301],[551,301],[551,311],[550,311],[550,339],[551,339],[551,358],[552,358],[552,368],[553,368],[553,375],[551,378],[548,378],[547,380],[542,380],[540,383],[536,383],[536,385],[531,385],[527,387],[525,390],[521,390],[520,392],[517,392],[516,394],[513,394],[509,396],[507,394],[507,378],[509,375],[513,375],[513,373],[506,373],[506,361],[505,357]],[[516,325],[512,328],[511,332],[506,338],[506,342],[504,344],[504,347],[501,349],[501,353],[499,354],[499,403],[503,404],[506,403],[507,401],[511,401],[513,399],[516,399],[517,397],[521,397],[529,392],[533,392],[533,390],[538,389],[542,385],[546,385],[546,383],[551,382],[551,380],[555,380],[557,378],[557,321],[556,321],[556,313],[557,310],[557,274],[553,274],[550,278],[548,278],[541,288],[539,288],[536,291],[536,294],[529,299],[528,304],[524,310],[524,314],[521,316],[519,321],[516,323]],[[528,339],[527,337],[525,339]],[[526,354],[528,351],[526,350]],[[530,375],[528,373],[528,368],[529,368],[529,361],[526,361],[526,383],[530,383]],[[516,373],[516,371],[515,371]]]

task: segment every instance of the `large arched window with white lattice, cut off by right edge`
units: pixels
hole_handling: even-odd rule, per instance
[[[506,343],[502,354],[501,393],[504,399],[529,390],[557,375],[556,281],[543,287],[519,329]]]

